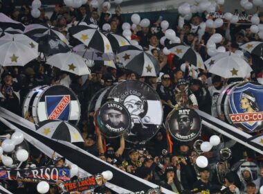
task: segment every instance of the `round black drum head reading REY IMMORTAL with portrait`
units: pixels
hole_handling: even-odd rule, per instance
[[[171,136],[178,141],[192,141],[201,132],[201,118],[194,109],[173,109],[166,118]]]

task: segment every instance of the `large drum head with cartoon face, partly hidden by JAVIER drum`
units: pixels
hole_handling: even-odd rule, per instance
[[[156,134],[163,121],[163,107],[152,87],[138,80],[127,80],[114,86],[108,98],[123,104],[131,115],[126,141],[148,141]]]

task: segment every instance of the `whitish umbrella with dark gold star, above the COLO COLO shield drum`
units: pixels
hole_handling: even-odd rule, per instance
[[[87,60],[72,52],[57,53],[46,60],[46,64],[78,76],[91,74],[86,62]]]

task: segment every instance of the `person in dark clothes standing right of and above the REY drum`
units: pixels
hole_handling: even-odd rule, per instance
[[[190,90],[197,98],[198,107],[201,111],[211,114],[212,98],[206,87],[203,87],[203,83],[199,79],[190,80]]]

